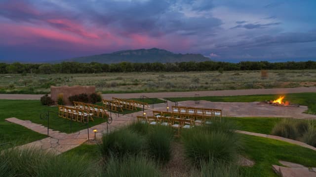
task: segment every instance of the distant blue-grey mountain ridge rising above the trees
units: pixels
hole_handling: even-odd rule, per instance
[[[67,59],[66,61],[77,62],[99,62],[99,63],[119,63],[119,62],[187,62],[187,61],[208,61],[207,57],[200,54],[174,54],[172,52],[163,49],[137,49],[137,50],[123,50],[113,52],[110,54],[101,54],[87,57],[78,57],[73,59]]]

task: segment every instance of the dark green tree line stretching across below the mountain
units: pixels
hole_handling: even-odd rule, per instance
[[[180,72],[180,71],[238,71],[270,69],[316,69],[316,61],[241,61],[239,63],[204,61],[176,63],[0,63],[0,74],[54,74],[54,73],[103,73],[103,72]]]

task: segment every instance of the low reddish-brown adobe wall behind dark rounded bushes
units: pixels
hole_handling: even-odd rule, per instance
[[[51,98],[57,103],[58,94],[63,93],[64,94],[64,103],[66,105],[72,105],[72,103],[69,101],[68,97],[73,96],[76,94],[86,93],[87,95],[90,95],[91,93],[95,92],[95,86],[61,86],[61,87],[55,87],[50,86],[50,95]]]

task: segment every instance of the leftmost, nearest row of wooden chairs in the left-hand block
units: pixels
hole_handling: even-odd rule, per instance
[[[58,116],[60,118],[67,118],[78,122],[88,122],[89,119],[94,121],[94,119],[92,118],[93,114],[89,113],[89,111],[87,110],[61,105],[58,105]]]

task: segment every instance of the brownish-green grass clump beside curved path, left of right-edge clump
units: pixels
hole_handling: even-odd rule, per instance
[[[293,120],[284,119],[278,122],[272,129],[272,134],[284,138],[290,138],[295,140],[298,137],[295,123]]]

